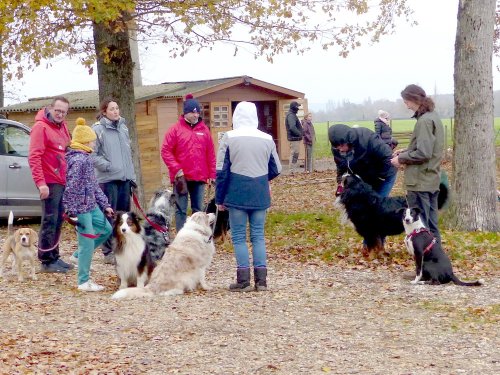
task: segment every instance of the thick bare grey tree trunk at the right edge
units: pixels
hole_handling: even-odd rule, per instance
[[[495,0],[460,0],[455,41],[455,131],[450,224],[498,231],[493,126]]]

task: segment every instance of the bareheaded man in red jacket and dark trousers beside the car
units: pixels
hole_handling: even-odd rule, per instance
[[[66,185],[66,147],[71,141],[65,118],[69,102],[56,97],[42,108],[31,129],[28,161],[31,175],[40,191],[42,223],[38,240],[38,259],[42,272],[66,273],[73,265],[59,258],[59,237],[63,223],[62,197]]]

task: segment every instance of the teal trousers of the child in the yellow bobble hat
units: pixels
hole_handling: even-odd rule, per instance
[[[78,285],[88,281],[90,263],[94,250],[109,238],[112,228],[99,207],[90,212],[77,215],[78,223]],[[88,238],[80,233],[99,235],[97,238]]]

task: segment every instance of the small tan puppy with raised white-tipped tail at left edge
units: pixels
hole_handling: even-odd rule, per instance
[[[20,228],[12,233],[14,223],[14,215],[12,211],[9,214],[7,227],[7,240],[3,245],[2,260],[0,261],[0,277],[3,276],[5,262],[10,254],[14,255],[14,264],[17,266],[17,278],[19,281],[24,281],[23,264],[28,263],[30,274],[33,280],[36,280],[37,250],[35,243],[38,241],[38,234],[30,228]]]

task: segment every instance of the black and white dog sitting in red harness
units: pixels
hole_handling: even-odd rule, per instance
[[[439,241],[427,229],[420,219],[420,210],[417,207],[401,210],[403,225],[406,232],[405,245],[410,255],[415,258],[416,276],[412,284],[447,284],[480,286],[482,280],[464,282],[453,273],[450,258],[441,248]]]

